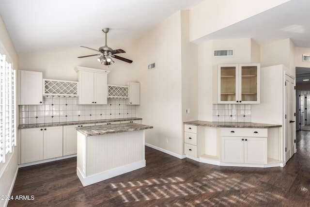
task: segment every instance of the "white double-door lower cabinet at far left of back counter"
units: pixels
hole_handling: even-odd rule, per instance
[[[62,126],[21,129],[21,163],[62,157]]]

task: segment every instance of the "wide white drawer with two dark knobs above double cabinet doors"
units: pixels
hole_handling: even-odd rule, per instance
[[[267,137],[267,128],[221,128],[221,136]]]

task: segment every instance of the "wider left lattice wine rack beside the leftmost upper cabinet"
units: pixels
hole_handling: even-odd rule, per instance
[[[78,82],[43,79],[44,96],[78,96]]]

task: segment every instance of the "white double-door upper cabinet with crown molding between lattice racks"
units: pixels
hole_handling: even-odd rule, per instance
[[[110,71],[76,67],[78,72],[78,104],[107,104],[108,74]]]

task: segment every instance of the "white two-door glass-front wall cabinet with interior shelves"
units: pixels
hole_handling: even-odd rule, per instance
[[[260,64],[218,65],[217,103],[260,103]]]

